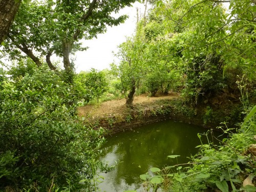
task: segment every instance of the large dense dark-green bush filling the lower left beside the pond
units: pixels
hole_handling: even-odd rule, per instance
[[[0,92],[0,190],[46,191],[52,180],[71,191],[91,187],[102,130],[74,116],[75,96],[51,71],[39,70],[18,82],[5,80]],[[68,182],[67,182],[68,181]]]

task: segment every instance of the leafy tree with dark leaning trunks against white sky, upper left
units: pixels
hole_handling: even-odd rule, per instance
[[[53,70],[55,68],[50,57],[56,54],[62,57],[65,70],[71,72],[74,63],[70,60],[70,54],[86,49],[81,47],[79,40],[97,37],[97,34],[106,31],[106,26],[123,23],[126,15],[115,18],[112,13],[131,6],[135,1],[47,0],[34,1],[27,7],[22,5],[8,35],[10,46],[7,51],[15,56],[18,49],[37,66],[41,65],[39,58],[44,56]],[[34,51],[39,55],[36,56]]]

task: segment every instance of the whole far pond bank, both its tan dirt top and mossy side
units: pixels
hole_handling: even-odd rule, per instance
[[[137,99],[141,100],[141,98]],[[109,134],[114,134],[167,119],[215,129],[221,122],[227,122],[228,119],[225,117],[234,113],[227,106],[223,108],[223,106],[198,105],[192,108],[177,94],[151,100],[144,98],[142,101],[135,102],[133,108],[127,108],[121,100],[111,101],[108,103],[108,108],[104,106],[106,103],[90,105],[78,109],[78,115],[83,117],[85,124],[91,124],[95,128],[103,127]],[[233,121],[232,118],[229,120]]]

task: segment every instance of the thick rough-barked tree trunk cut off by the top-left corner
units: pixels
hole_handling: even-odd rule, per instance
[[[12,21],[18,11],[20,1],[0,0],[0,43],[5,40]]]

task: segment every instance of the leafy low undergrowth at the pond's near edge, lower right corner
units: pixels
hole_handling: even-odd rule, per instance
[[[199,152],[186,164],[179,164],[179,155],[169,155],[177,164],[162,169],[153,167],[141,175],[145,191],[256,191],[256,105],[248,102],[246,83],[243,77],[237,82],[244,106],[244,121],[239,129],[229,129],[222,123],[221,129],[228,137],[211,141],[211,131],[198,137]],[[202,142],[207,138],[207,143]]]

